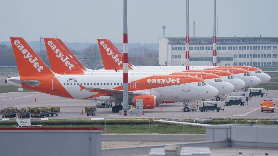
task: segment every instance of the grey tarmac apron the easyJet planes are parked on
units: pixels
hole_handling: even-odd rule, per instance
[[[36,99],[37,102],[34,102]],[[278,90],[269,90],[267,96],[252,97],[248,105],[225,106],[224,110],[216,111],[189,111],[182,112],[183,102],[161,104],[155,109],[145,109],[145,116],[120,116],[119,113],[113,113],[111,108],[97,108],[95,116],[81,115],[81,111],[85,112],[85,106],[96,106],[95,101],[76,100],[64,97],[52,96],[40,92],[10,92],[0,94],[0,108],[7,106],[23,107],[39,107],[39,106],[59,106],[61,113],[58,117],[49,118],[278,118],[278,111],[274,113],[261,113],[261,101],[273,100],[278,105]],[[160,113],[162,109],[163,113]]]

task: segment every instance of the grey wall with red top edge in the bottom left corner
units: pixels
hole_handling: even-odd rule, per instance
[[[0,128],[1,155],[101,155],[101,129]]]

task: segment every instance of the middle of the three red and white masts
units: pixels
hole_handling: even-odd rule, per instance
[[[189,70],[189,2],[186,0],[186,22],[185,22],[185,70]]]

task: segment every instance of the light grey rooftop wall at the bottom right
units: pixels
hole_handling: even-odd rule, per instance
[[[220,125],[208,126],[207,141],[231,141],[231,147],[278,148],[278,126]]]

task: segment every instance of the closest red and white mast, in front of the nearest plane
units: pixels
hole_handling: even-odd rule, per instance
[[[124,40],[123,40],[123,108],[128,110],[128,47],[127,47],[127,0],[124,0]]]

